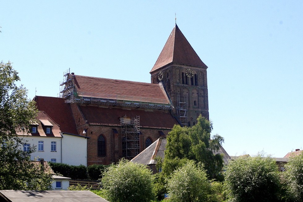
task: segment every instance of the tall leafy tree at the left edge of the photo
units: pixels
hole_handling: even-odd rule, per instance
[[[25,141],[16,136],[28,133],[36,117],[34,101],[28,100],[23,86],[15,84],[19,80],[11,62],[0,62],[0,189],[50,189],[51,176],[30,160],[35,148],[23,151]]]

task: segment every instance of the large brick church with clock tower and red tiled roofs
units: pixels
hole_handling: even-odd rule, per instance
[[[133,159],[175,124],[209,119],[207,66],[177,24],[149,73],[151,83],[65,72],[60,97],[34,100],[62,133],[87,137],[87,165]]]

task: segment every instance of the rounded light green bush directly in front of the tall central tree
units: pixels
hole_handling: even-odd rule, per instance
[[[188,161],[172,174],[168,182],[170,201],[209,201],[211,186],[201,163]]]

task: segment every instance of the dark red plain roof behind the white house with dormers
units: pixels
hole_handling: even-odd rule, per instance
[[[53,119],[62,132],[79,135],[70,104],[65,102],[65,98],[36,96],[34,100],[38,110]]]

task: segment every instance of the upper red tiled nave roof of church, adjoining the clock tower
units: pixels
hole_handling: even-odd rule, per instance
[[[75,75],[74,81],[78,95],[83,97],[170,104],[159,84],[80,75]]]

